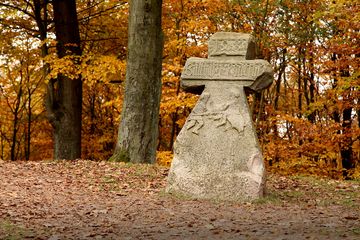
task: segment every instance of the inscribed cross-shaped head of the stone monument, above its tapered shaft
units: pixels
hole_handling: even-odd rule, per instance
[[[255,59],[256,45],[250,34],[218,32],[209,40],[209,57],[191,57],[181,74],[181,87],[201,93],[209,82],[236,82],[261,91],[273,81],[269,62]]]

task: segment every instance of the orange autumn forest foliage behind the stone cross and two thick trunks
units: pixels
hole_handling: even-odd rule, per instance
[[[0,4],[0,159],[53,158],[44,98],[51,76],[83,81],[83,159],[113,154],[124,95],[128,3],[78,0],[81,64],[58,58],[48,1]],[[46,13],[41,38],[35,4]],[[360,178],[359,4],[352,0],[164,0],[158,163],[198,96],[180,89],[189,57],[207,57],[218,31],[252,33],[275,81],[249,94],[268,171]],[[41,49],[46,46],[47,56]],[[44,65],[51,71],[45,76]]]

